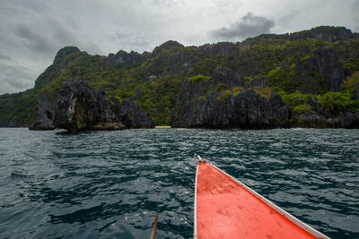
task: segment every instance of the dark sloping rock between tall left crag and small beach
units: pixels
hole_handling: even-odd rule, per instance
[[[145,115],[132,100],[127,99],[120,103],[117,98],[112,98],[112,101],[115,103],[115,114],[127,128],[153,128],[155,126],[152,118]]]

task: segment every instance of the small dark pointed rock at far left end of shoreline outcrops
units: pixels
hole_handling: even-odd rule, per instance
[[[38,121],[29,127],[32,131],[54,130],[54,107],[48,101],[45,93],[39,97]]]

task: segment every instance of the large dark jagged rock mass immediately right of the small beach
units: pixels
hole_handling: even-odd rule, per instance
[[[251,88],[240,90],[243,86],[240,74],[224,67],[216,69],[209,81],[185,80],[171,112],[171,126],[242,129],[289,126],[292,111],[276,92],[265,98]]]

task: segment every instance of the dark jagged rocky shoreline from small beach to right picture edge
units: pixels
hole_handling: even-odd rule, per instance
[[[210,79],[185,80],[171,126],[184,128],[358,128],[359,110],[330,115],[308,99],[312,113],[296,114],[275,90],[261,91],[263,84],[246,88],[244,79],[227,67],[215,70]],[[220,87],[218,87],[220,86]],[[228,90],[232,89],[232,90]],[[254,90],[256,89],[256,90]]]

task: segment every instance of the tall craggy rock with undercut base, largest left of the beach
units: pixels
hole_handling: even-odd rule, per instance
[[[124,125],[109,107],[103,90],[69,78],[64,82],[55,110],[55,126],[69,131],[120,130]]]

